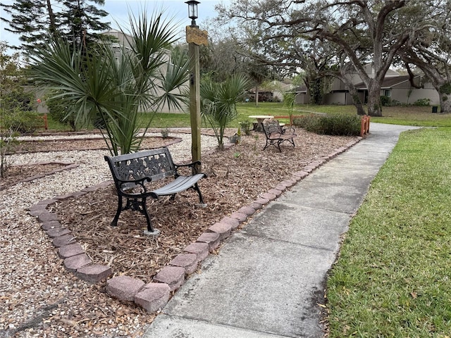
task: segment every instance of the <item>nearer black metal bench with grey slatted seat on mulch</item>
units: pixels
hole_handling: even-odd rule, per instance
[[[199,194],[199,201],[204,204],[204,199],[197,182],[203,177],[204,173],[194,173],[192,175],[180,175],[179,168],[185,167],[185,170],[191,168],[191,173],[196,168],[200,168],[200,162],[194,162],[184,165],[176,165],[173,163],[169,149],[159,148],[149,151],[140,151],[132,154],[119,156],[105,156],[108,162],[111,174],[118,193],[118,209],[114,216],[112,226],[118,225],[119,215],[123,210],[131,209],[140,211],[146,216],[147,233],[158,234],[159,230],[152,227],[152,223],[147,212],[147,197],[158,199],[159,196],[172,196],[183,192],[187,189],[194,189]],[[168,183],[155,189],[150,182],[156,182],[172,177]],[[123,206],[123,197],[127,199],[127,203]]]

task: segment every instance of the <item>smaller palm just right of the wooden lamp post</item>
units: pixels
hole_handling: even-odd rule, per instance
[[[200,84],[201,113],[214,130],[219,149],[224,149],[224,130],[237,118],[236,104],[242,101],[249,89],[249,80],[243,75],[233,75],[224,82],[202,79]]]

